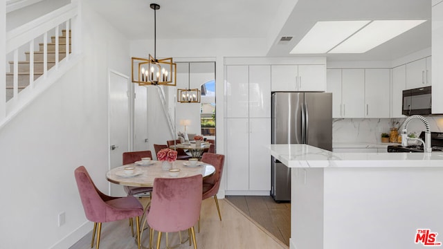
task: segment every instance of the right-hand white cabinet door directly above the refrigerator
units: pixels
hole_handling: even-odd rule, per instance
[[[325,91],[325,65],[298,65],[298,91]]]

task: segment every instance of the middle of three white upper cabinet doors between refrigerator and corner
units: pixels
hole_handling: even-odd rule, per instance
[[[364,118],[364,69],[342,69],[341,77],[343,118]]]

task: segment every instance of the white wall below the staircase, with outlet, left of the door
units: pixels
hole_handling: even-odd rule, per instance
[[[76,167],[108,192],[107,69],[129,72],[129,43],[87,3],[82,17],[82,62],[0,130],[1,248],[69,248],[92,229]]]

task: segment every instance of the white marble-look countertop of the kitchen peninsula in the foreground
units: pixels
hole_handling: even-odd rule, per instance
[[[287,167],[443,167],[443,152],[336,153],[311,145],[270,145]]]

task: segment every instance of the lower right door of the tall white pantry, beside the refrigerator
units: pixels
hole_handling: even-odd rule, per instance
[[[249,119],[249,190],[271,190],[271,118]]]

